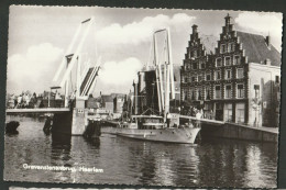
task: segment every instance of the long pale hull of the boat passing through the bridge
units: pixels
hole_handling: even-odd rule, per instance
[[[102,133],[144,139],[168,143],[194,144],[200,128],[156,128],[156,130],[138,130],[138,128],[121,128],[121,127],[102,127]]]

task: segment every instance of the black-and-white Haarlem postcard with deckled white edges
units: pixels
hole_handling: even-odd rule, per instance
[[[276,188],[282,20],[11,5],[4,180]]]

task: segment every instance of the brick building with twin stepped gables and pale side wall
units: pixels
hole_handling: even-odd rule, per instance
[[[239,32],[229,14],[213,54],[193,25],[180,70],[180,100],[216,120],[277,126],[280,55],[271,38]]]

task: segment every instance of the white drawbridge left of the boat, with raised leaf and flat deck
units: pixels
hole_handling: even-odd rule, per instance
[[[64,108],[50,108],[51,92],[48,96],[48,108],[35,109],[7,109],[7,114],[13,113],[63,113],[70,111],[72,100],[87,100],[92,93],[97,76],[100,69],[101,58],[92,63],[90,59],[84,59],[82,46],[94,24],[95,19],[90,18],[79,23],[73,40],[65,52],[65,55],[59,64],[57,71],[53,78],[52,90],[63,89],[64,91]],[[73,76],[73,77],[72,77]],[[76,76],[76,77],[74,77]],[[73,81],[72,79],[74,78]],[[74,88],[74,83],[75,88]],[[73,88],[70,88],[70,86]]]

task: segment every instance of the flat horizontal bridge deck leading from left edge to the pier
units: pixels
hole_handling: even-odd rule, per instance
[[[69,108],[36,108],[36,109],[7,109],[7,114],[12,113],[63,113],[70,111]]]

